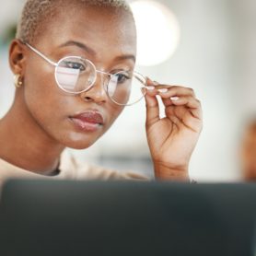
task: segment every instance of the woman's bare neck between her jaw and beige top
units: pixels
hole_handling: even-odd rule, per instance
[[[17,100],[0,121],[0,145],[0,158],[42,175],[51,175],[58,168],[64,150]]]

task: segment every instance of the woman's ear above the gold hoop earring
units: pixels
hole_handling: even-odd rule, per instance
[[[14,74],[19,74],[24,76],[25,74],[25,64],[26,64],[26,49],[25,45],[19,41],[14,40],[10,44],[9,49],[9,64],[12,72]]]

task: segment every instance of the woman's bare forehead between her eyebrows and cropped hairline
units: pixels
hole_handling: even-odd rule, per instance
[[[54,48],[65,41],[81,41],[99,55],[104,52],[119,55],[136,53],[134,19],[120,8],[66,7],[43,23],[44,29],[38,40],[42,46],[49,44]]]

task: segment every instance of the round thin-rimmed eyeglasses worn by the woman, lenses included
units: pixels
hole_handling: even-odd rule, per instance
[[[25,44],[42,59],[55,66],[56,83],[67,93],[86,92],[94,86],[99,73],[108,76],[104,89],[117,105],[131,106],[145,96],[146,77],[137,72],[119,71],[111,74],[99,71],[91,61],[79,56],[66,56],[55,63],[29,43]]]

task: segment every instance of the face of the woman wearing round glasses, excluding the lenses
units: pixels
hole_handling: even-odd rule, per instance
[[[134,21],[109,7],[66,8],[44,27],[32,45],[54,62],[82,56],[100,71],[133,70],[136,54]],[[54,66],[26,50],[24,104],[32,120],[58,143],[72,148],[92,145],[111,126],[123,107],[108,98],[99,74],[94,87],[79,95],[62,91]]]

